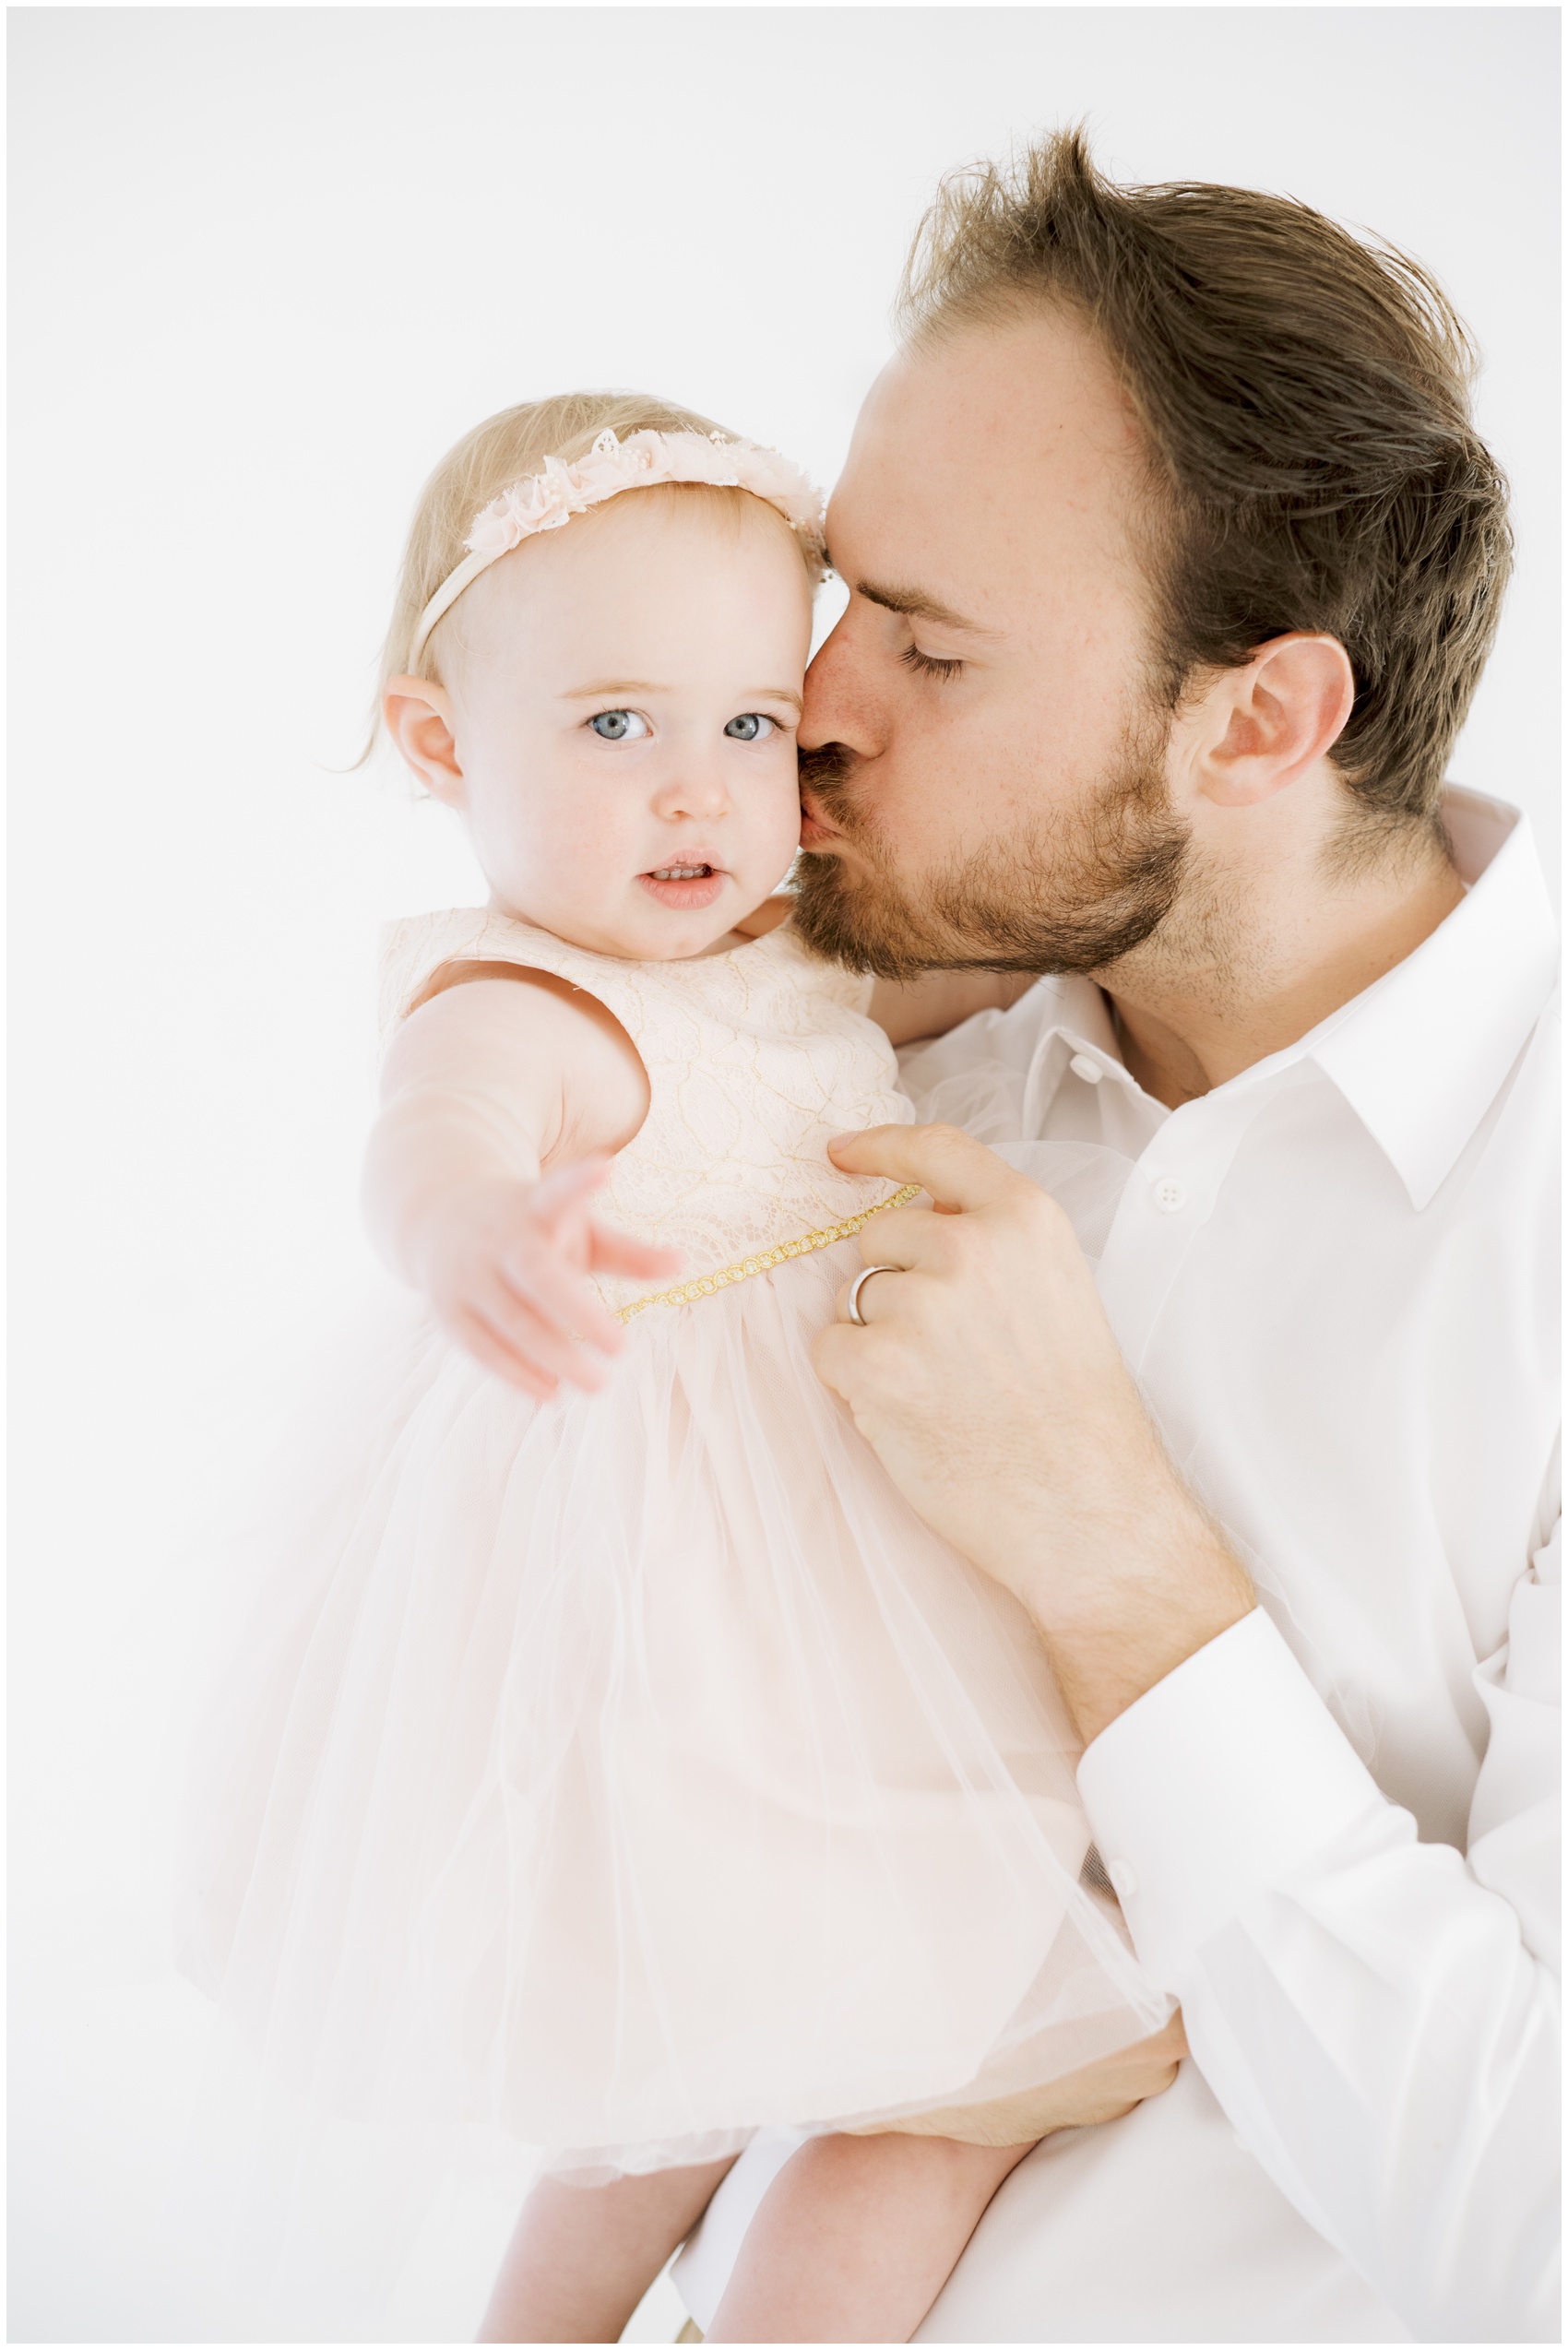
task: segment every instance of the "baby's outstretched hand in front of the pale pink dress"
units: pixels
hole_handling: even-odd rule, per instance
[[[604,1356],[625,1335],[588,1288],[588,1274],[656,1281],[679,1271],[668,1248],[644,1248],[595,1222],[590,1198],[609,1161],[583,1159],[538,1182],[475,1177],[451,1184],[421,1217],[411,1271],[437,1321],[524,1394],[552,1396],[562,1379],[604,1386]]]

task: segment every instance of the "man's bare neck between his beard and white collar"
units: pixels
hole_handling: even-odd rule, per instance
[[[1100,973],[1128,1072],[1180,1109],[1403,964],[1462,895],[1427,841],[1345,879],[1194,884],[1154,938]]]

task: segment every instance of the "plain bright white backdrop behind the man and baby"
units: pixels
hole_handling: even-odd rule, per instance
[[[162,2195],[169,1821],[212,1528],[364,1267],[374,931],[477,895],[341,773],[435,456],[635,383],[830,482],[938,172],[1084,115],[1474,324],[1521,559],[1455,773],[1554,848],[1556,87],[1528,7],[12,12],[12,2338],[275,2331]],[[364,2334],[468,2334],[503,2223],[440,2211]]]

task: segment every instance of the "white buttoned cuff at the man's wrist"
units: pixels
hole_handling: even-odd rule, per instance
[[[1164,1990],[1253,1894],[1387,1805],[1262,1607],[1100,1732],[1079,1795]]]

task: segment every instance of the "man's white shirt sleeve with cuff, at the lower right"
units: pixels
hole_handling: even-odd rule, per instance
[[[1556,2341],[1561,1523],[1476,1666],[1469,1854],[1422,1845],[1255,1610],[1079,1791],[1241,2143],[1422,2341]]]

